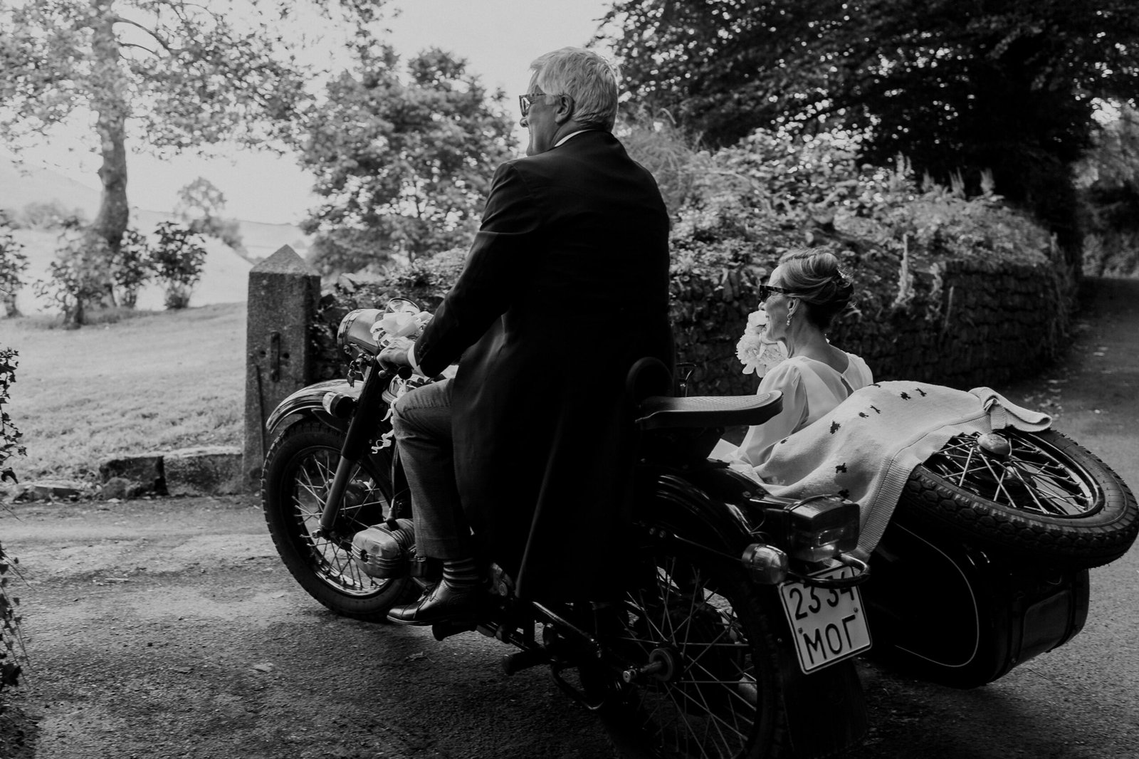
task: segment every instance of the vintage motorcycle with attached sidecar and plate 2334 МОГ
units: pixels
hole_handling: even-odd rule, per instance
[[[277,549],[317,601],[357,619],[383,621],[439,579],[415,554],[385,418],[425,381],[376,358],[391,325],[419,311],[393,299],[345,316],[347,378],[293,393],[267,422],[261,492]],[[622,756],[835,753],[867,727],[857,656],[959,687],[992,682],[1080,631],[1088,569],[1139,531],[1134,497],[1095,456],[1056,432],[1010,431],[959,436],[918,467],[867,561],[857,504],[777,498],[707,458],[723,427],[777,414],[778,393],[673,391],[658,361],[630,372],[639,464],[621,603],[522,599],[491,564],[478,619],[433,628],[514,646],[508,674],[549,666]]]

